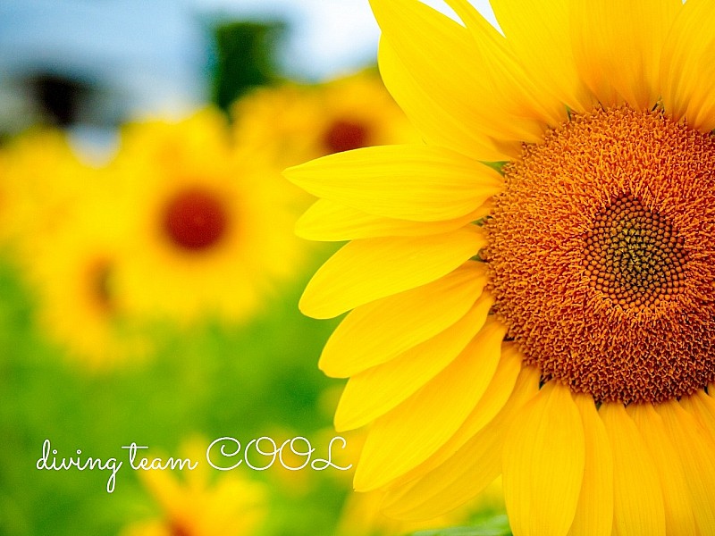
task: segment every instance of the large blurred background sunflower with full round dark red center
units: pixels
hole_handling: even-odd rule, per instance
[[[206,110],[122,132],[114,170],[130,180],[132,242],[117,285],[137,314],[240,321],[298,268],[290,195]]]

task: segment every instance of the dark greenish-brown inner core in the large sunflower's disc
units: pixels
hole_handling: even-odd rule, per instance
[[[649,307],[684,284],[683,239],[666,218],[621,194],[585,234],[585,275],[593,289],[623,308]]]

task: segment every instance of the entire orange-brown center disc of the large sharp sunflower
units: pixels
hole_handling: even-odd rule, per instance
[[[715,139],[595,109],[525,146],[486,223],[495,311],[545,380],[659,402],[715,381]]]

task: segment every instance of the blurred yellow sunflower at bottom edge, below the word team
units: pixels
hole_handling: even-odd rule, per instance
[[[189,460],[203,460],[198,443],[189,443],[185,450]],[[236,472],[215,471],[205,461],[193,470],[183,469],[181,475],[180,480],[169,470],[139,472],[162,518],[130,524],[122,536],[248,536],[258,532],[266,514],[261,484],[240,478]]]

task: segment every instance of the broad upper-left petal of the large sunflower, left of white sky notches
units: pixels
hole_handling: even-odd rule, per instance
[[[416,87],[423,103],[432,101],[450,122],[480,134],[506,142],[541,139],[552,117],[543,112],[543,96],[509,56],[503,38],[478,41],[416,0],[372,0],[371,5],[383,30],[383,80],[410,119],[431,110],[405,105],[400,86]]]

